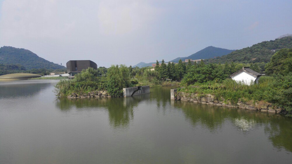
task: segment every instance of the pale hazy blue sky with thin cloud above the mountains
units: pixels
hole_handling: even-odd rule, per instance
[[[292,33],[291,0],[0,0],[0,46],[54,63],[173,60]]]

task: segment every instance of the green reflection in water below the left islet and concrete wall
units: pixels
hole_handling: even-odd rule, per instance
[[[60,98],[56,106],[62,111],[69,111],[72,107],[84,110],[105,108],[108,111],[109,125],[114,128],[127,128],[134,118],[133,108],[146,99],[149,99],[149,94],[125,98]]]

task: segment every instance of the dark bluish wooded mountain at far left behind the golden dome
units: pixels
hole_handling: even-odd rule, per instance
[[[4,46],[0,48],[0,64],[22,65],[25,69],[65,69],[66,67],[49,62],[30,50]]]

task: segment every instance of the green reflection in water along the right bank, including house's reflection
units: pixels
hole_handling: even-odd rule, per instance
[[[211,132],[219,129],[225,120],[230,120],[235,127],[243,132],[255,126],[264,126],[269,140],[277,148],[292,152],[292,119],[281,115],[261,113],[244,109],[230,109],[213,105],[190,102],[171,101],[173,107],[181,109],[185,118],[193,126],[202,125]]]

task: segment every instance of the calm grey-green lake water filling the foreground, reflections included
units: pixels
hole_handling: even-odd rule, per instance
[[[58,99],[58,80],[0,82],[0,163],[291,163],[292,119],[170,100]]]

